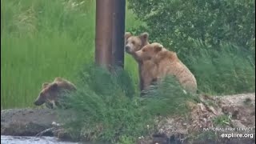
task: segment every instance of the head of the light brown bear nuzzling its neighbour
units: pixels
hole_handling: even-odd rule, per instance
[[[148,44],[142,47],[142,50],[138,50],[134,54],[134,58],[138,61],[147,61],[155,58],[159,52],[165,50],[164,47],[157,42]]]

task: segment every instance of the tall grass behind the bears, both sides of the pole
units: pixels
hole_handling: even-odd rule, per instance
[[[126,30],[145,23],[126,9]],[[94,0],[1,1],[1,109],[33,106],[43,82],[78,82],[78,70],[94,62]],[[255,91],[254,54],[232,45],[197,45],[178,57],[208,94]],[[216,49],[216,50],[215,50]],[[138,93],[138,65],[126,54],[125,69]]]

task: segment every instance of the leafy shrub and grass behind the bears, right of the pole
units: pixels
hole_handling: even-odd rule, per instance
[[[190,68],[208,94],[255,91],[255,1],[138,1],[129,8],[160,42]]]

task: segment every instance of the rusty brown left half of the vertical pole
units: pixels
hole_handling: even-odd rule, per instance
[[[110,68],[112,64],[113,0],[96,0],[95,63]]]

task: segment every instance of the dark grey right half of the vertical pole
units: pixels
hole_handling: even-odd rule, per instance
[[[126,0],[113,1],[112,63],[114,66],[123,68]]]

